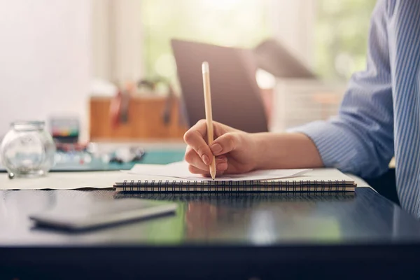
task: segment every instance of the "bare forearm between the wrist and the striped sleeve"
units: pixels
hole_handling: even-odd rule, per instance
[[[258,150],[256,169],[323,167],[314,142],[302,133],[252,134]]]

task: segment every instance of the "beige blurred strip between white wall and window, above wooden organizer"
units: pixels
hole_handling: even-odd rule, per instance
[[[94,78],[125,84],[143,73],[142,0],[91,0]]]

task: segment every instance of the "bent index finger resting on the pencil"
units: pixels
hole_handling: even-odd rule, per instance
[[[188,132],[186,132],[186,134],[184,134],[183,139],[186,144],[190,146],[198,156],[200,156],[200,159],[202,162],[204,162],[204,165],[208,166],[211,164],[213,153],[211,153],[209,145],[207,145],[207,142],[204,140],[206,133],[206,122],[204,120],[200,120],[200,122],[195,124],[190,128],[190,130],[188,130]],[[188,162],[187,158],[186,160]]]

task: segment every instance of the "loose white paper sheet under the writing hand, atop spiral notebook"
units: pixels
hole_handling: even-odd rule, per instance
[[[300,176],[311,169],[269,169],[257,170],[244,174],[229,174],[216,177],[216,181],[257,181],[270,179],[283,179],[294,176]],[[134,165],[128,172],[130,174],[147,175],[147,176],[165,176],[190,181],[212,181],[211,178],[201,175],[192,174],[188,171],[186,162],[174,162],[169,165]]]

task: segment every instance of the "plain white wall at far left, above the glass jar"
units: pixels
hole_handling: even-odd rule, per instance
[[[90,0],[0,0],[0,136],[13,120],[75,115],[87,134]]]

